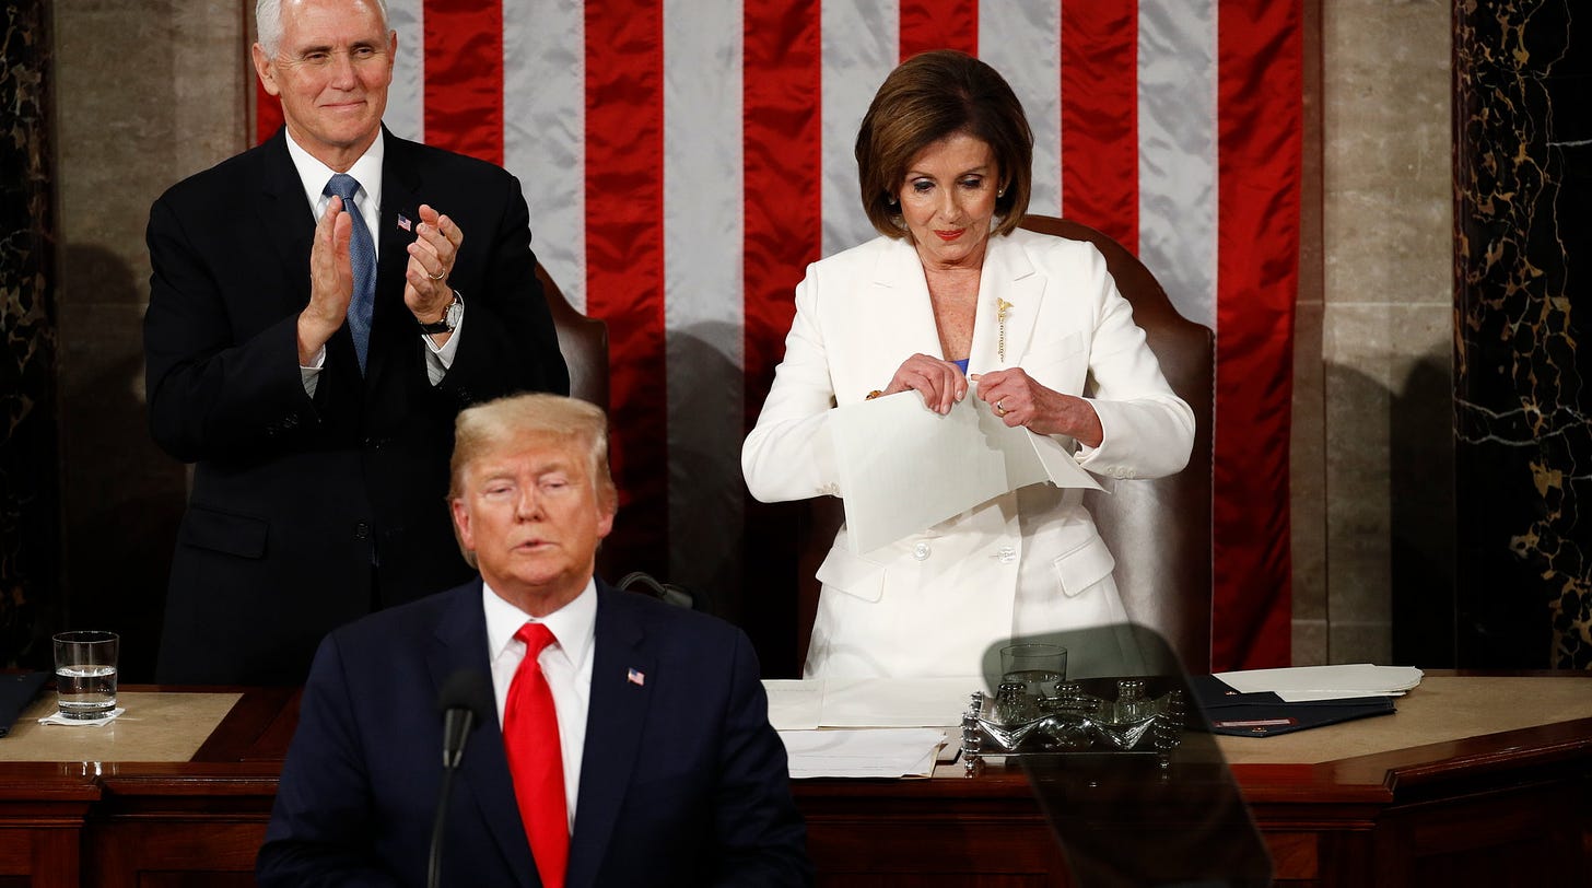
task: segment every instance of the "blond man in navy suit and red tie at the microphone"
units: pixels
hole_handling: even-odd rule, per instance
[[[602,411],[521,395],[457,426],[454,524],[481,576],[322,645],[259,883],[425,883],[436,699],[460,672],[497,718],[465,750],[439,885],[810,883],[747,637],[592,576],[618,504]]]

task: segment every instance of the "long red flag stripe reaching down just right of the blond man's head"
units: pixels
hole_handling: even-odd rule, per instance
[[[613,469],[632,516],[607,555],[670,576],[662,27],[650,0],[586,3],[586,314],[608,321]]]

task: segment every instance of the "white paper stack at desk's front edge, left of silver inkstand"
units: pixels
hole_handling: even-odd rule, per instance
[[[802,777],[928,777],[946,743],[923,727],[782,730],[790,773]]]

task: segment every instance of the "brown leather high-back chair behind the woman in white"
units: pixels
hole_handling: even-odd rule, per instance
[[[1100,536],[1116,557],[1129,619],[1157,632],[1191,673],[1210,672],[1212,621],[1212,396],[1215,334],[1176,312],[1149,269],[1110,236],[1083,223],[1028,215],[1022,228],[1087,240],[1105,255],[1116,286],[1134,306],[1161,372],[1194,409],[1194,450],[1170,477],[1116,481],[1111,493],[1084,493]],[[844,520],[839,500],[807,500],[798,517],[798,651],[806,657],[820,584],[814,576]]]

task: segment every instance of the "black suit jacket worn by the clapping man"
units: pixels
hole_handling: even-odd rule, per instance
[[[366,220],[380,239],[366,374],[344,326],[314,399],[296,325],[315,220],[285,130],[150,210],[150,428],[197,463],[167,592],[164,683],[298,684],[333,627],[463,582],[444,503],[454,415],[514,391],[568,391],[519,181],[384,135],[382,212]],[[412,228],[422,202],[465,236],[449,277],[465,328],[436,387],[403,304],[414,234],[398,218]]]

